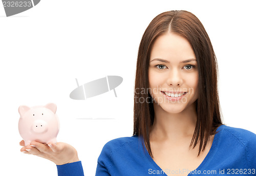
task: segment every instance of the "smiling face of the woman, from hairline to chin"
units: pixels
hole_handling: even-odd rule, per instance
[[[154,108],[180,113],[198,99],[196,55],[184,37],[172,32],[153,43],[148,68]]]

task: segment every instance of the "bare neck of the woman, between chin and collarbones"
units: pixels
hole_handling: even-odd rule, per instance
[[[179,140],[192,138],[197,122],[196,103],[180,113],[171,114],[154,104],[155,119],[151,140]]]

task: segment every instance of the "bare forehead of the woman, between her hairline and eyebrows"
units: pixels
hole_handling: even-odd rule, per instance
[[[157,37],[151,49],[151,60],[164,58],[167,60],[182,60],[196,58],[189,41],[172,32]]]

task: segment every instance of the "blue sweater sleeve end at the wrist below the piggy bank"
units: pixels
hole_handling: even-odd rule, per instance
[[[84,176],[81,161],[57,165],[57,170],[58,176]]]

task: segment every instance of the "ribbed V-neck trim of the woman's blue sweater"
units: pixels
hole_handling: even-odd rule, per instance
[[[223,124],[220,125],[220,126],[216,129],[216,131],[219,131],[223,126],[225,126],[225,125],[223,125]],[[217,146],[219,137],[220,137],[220,132],[217,133],[217,134],[215,134],[214,140],[212,141],[212,144],[211,144],[211,147],[210,147],[210,150],[209,150],[209,152],[207,153],[206,157],[204,158],[203,162],[202,162],[195,170],[190,171],[187,176],[189,176],[189,175],[191,174],[191,172],[192,172],[192,173],[195,173],[196,170],[197,170],[197,171],[198,171],[198,170],[201,170],[201,169],[205,166],[205,164],[207,164],[207,162],[209,161],[209,158],[210,158],[212,155],[214,155],[214,151],[216,150],[216,146]],[[143,144],[143,147],[145,148],[145,154],[146,154],[147,159],[153,164],[153,166],[154,166],[159,172],[161,172],[161,175],[167,176],[166,173],[157,165],[157,163],[156,163],[156,162],[153,160],[153,158],[150,156],[150,153],[148,153],[148,151],[147,151],[147,149],[146,149],[146,147],[145,147],[144,141],[142,142],[142,144]],[[142,147],[142,150],[143,150],[143,147]],[[163,174],[162,174],[162,173],[163,173]]]

